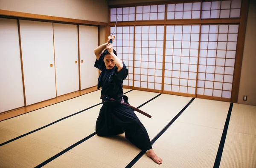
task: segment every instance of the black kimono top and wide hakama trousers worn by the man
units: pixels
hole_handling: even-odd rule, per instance
[[[102,87],[101,94],[105,96],[102,98],[103,105],[96,121],[97,135],[110,136],[125,132],[125,137],[141,150],[151,149],[148,132],[133,109],[120,103],[123,97],[125,103],[128,104],[128,97],[123,95],[122,90],[122,83],[128,75],[128,69],[123,63],[123,68],[119,72],[117,72],[116,65],[108,70],[102,57],[103,54],[99,61],[96,60],[94,64],[96,68],[102,71],[98,79],[98,89]],[[116,101],[108,101],[109,98]]]

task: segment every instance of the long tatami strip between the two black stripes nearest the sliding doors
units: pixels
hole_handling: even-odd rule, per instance
[[[130,90],[131,89],[124,89],[124,92]],[[69,116],[93,105],[101,103],[101,99],[99,98],[100,91],[101,90],[84,94],[82,96],[57,103],[55,105],[50,105],[48,107],[23,114],[18,117],[2,121],[0,122],[0,128],[4,128],[18,134],[26,134],[63,117]],[[9,140],[12,138],[10,137]],[[5,141],[1,141],[0,143],[6,142],[7,140],[8,139],[5,139]]]

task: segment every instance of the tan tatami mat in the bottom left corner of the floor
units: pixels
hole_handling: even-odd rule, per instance
[[[33,168],[62,149],[29,137],[0,147],[0,168]]]

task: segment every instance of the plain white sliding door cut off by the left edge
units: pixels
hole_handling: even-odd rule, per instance
[[[17,20],[0,18],[0,112],[24,106]]]

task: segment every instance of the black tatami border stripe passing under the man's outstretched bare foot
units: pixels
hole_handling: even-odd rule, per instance
[[[154,142],[156,142],[156,140],[172,125],[173,122],[175,122],[175,120],[180,116],[180,114],[183,113],[183,111],[186,110],[186,108],[195,100],[195,98],[192,98],[189,103],[186,104],[186,106],[184,108],[182,108],[182,110],[172,119],[171,122],[169,122],[165,128],[163,128],[162,131],[160,131],[159,134],[157,134],[156,137],[154,137],[153,140],[151,140],[151,145],[154,144]],[[145,154],[146,151],[140,151],[139,154],[137,154],[136,157],[134,157],[134,159],[125,167],[125,168],[131,168],[142,156],[143,154]]]

